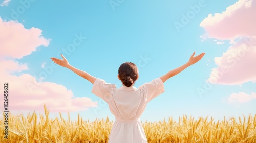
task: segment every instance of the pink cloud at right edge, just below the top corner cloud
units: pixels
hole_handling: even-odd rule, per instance
[[[222,57],[216,57],[218,67],[212,69],[208,81],[224,85],[240,85],[256,80],[256,43],[255,39],[244,38],[223,53]],[[247,43],[247,42],[248,43]]]

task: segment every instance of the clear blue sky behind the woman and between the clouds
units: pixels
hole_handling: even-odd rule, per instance
[[[256,113],[255,98],[246,103],[227,100],[232,93],[255,93],[255,83],[217,83],[205,89],[206,80],[212,69],[217,67],[215,57],[222,57],[232,44],[228,39],[204,39],[202,35],[207,31],[200,23],[209,14],[222,13],[236,2],[12,0],[7,6],[0,7],[0,17],[6,22],[16,20],[25,29],[38,28],[49,40],[47,47],[38,46],[36,51],[15,59],[28,66],[27,70],[14,73],[16,76],[42,77],[42,72],[52,64],[50,58],[60,58],[62,53],[71,65],[117,86],[121,84],[117,79],[118,67],[123,62],[133,62],[139,67],[140,77],[135,84],[138,87],[183,65],[194,51],[196,55],[204,52],[206,54],[201,61],[164,83],[165,92],[147,105],[141,120],[158,121],[168,116],[178,118],[183,114],[222,119],[224,116]],[[196,13],[191,7],[200,9]],[[189,12],[194,15],[190,15],[187,23],[182,23],[183,14]],[[177,22],[183,26],[177,28]],[[216,39],[225,43],[217,44]],[[74,45],[74,40],[77,45]],[[72,91],[74,97],[88,97],[98,102],[98,107],[71,112],[73,119],[80,113],[84,119],[109,116],[114,120],[106,103],[91,93],[92,84],[72,71],[53,67],[50,74],[39,82],[63,85]],[[200,94],[199,88],[206,92]]]

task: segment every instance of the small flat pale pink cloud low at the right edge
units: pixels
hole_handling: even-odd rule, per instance
[[[232,93],[230,97],[227,99],[229,103],[246,103],[251,100],[256,99],[256,93],[251,93],[251,95],[239,92],[239,93]]]

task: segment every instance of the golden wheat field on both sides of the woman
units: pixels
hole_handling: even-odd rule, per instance
[[[61,113],[60,119],[49,118],[45,106],[45,114],[35,112],[27,116],[9,114],[9,136],[4,138],[4,120],[0,121],[0,142],[108,142],[108,136],[113,122],[106,120],[71,121],[69,114],[65,120]],[[159,122],[142,122],[148,142],[256,142],[256,115],[247,117],[223,119],[195,119],[183,116],[179,121],[172,117]]]

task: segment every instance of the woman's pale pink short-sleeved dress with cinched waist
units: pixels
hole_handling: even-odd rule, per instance
[[[147,142],[140,116],[148,102],[164,92],[164,85],[160,78],[138,87],[122,86],[106,83],[97,79],[92,93],[102,98],[109,105],[116,121],[109,136],[109,143],[144,143]]]

